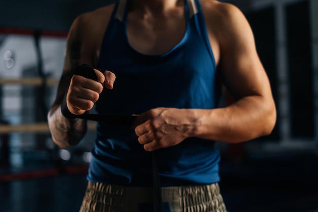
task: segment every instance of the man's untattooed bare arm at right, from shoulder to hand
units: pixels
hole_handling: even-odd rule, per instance
[[[232,5],[210,3],[213,16],[206,17],[212,20],[207,27],[217,32],[211,35],[219,47],[219,52],[213,49],[219,55],[218,72],[236,101],[224,108],[155,108],[139,115],[135,132],[148,151],[176,145],[187,137],[243,142],[268,135],[274,128],[275,104],[247,20]]]

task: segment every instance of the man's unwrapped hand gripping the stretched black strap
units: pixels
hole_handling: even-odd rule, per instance
[[[147,151],[177,145],[195,129],[189,110],[155,108],[140,114],[135,122],[139,143]]]

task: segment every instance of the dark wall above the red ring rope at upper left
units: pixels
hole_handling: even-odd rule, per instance
[[[0,27],[65,32],[77,15],[113,2],[115,0],[0,1]]]

